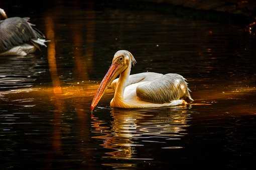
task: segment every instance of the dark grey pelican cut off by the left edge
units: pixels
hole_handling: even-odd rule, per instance
[[[27,55],[46,46],[44,34],[28,21],[28,17],[8,18],[0,8],[0,55]]]

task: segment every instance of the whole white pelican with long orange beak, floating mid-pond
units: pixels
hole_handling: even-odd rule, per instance
[[[131,67],[136,60],[131,52],[118,50],[106,75],[102,79],[91,103],[95,108],[107,86],[114,89],[111,107],[145,108],[162,107],[192,102],[186,79],[176,73],[161,74],[142,72],[132,74]],[[115,79],[117,75],[119,78]]]

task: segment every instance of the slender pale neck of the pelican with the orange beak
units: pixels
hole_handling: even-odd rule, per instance
[[[123,101],[124,88],[126,87],[127,82],[129,81],[131,67],[132,62],[130,61],[128,67],[120,74],[115,88],[113,100]]]

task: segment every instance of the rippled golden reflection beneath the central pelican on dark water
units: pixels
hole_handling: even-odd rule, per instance
[[[170,145],[170,140],[181,139],[187,134],[185,127],[189,126],[190,117],[188,108],[184,106],[129,110],[114,108],[110,113],[110,122],[104,122],[92,114],[92,131],[96,133],[93,138],[102,139],[103,147],[114,149],[106,152],[109,155],[107,157],[118,159],[152,159],[153,157],[139,157],[136,149],[144,147],[148,142],[157,142],[160,148],[182,148]],[[102,113],[96,114],[100,116]]]

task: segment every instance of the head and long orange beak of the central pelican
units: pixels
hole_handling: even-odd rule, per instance
[[[112,60],[112,64],[110,65],[106,75],[100,82],[97,92],[93,97],[93,100],[91,103],[91,111],[95,108],[95,106],[99,102],[107,86],[111,84],[111,82],[117,77],[117,75],[121,74],[124,70],[129,68],[129,66],[135,63],[136,63],[136,60],[131,52],[127,50],[118,50],[117,52],[115,52]]]

